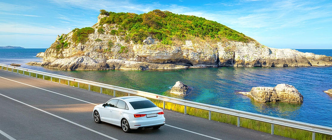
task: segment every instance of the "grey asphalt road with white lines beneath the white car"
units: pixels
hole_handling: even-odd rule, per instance
[[[289,139],[166,109],[166,124],[159,129],[124,133],[121,127],[93,120],[93,107],[111,98],[0,70],[0,140]]]

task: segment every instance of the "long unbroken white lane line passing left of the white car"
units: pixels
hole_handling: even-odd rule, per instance
[[[52,114],[52,113],[50,113],[50,112],[47,112],[47,111],[45,111],[45,110],[39,109],[39,108],[37,108],[37,107],[35,107],[35,106],[29,105],[29,104],[23,103],[23,102],[21,102],[21,101],[15,100],[15,99],[13,99],[13,98],[10,98],[10,97],[8,97],[8,96],[5,96],[5,95],[3,95],[3,94],[1,94],[1,93],[0,93],[0,95],[3,96],[3,97],[6,97],[6,98],[8,98],[8,99],[11,99],[11,100],[13,100],[13,101],[19,102],[19,103],[21,103],[21,104],[23,104],[23,105],[27,105],[27,106],[29,106],[29,107],[32,107],[32,108],[34,108],[34,109],[37,109],[37,110],[39,110],[39,111],[41,111],[41,112],[44,112],[44,113],[47,113],[47,114],[52,115],[52,116],[54,116],[54,117],[57,117],[57,118],[59,118],[59,119],[62,119],[62,120],[64,120],[64,121],[67,121],[67,122],[70,122],[70,123],[72,123],[72,124],[75,124],[75,125],[77,125],[77,126],[79,126],[79,127],[82,127],[82,128],[84,128],[84,129],[87,129],[87,130],[89,130],[89,131],[95,132],[95,133],[97,133],[97,134],[99,134],[99,135],[105,136],[105,137],[110,138],[110,139],[113,139],[113,140],[118,140],[118,139],[113,138],[113,137],[111,137],[111,136],[108,136],[108,135],[106,135],[106,134],[100,133],[100,132],[98,132],[98,131],[96,131],[96,130],[90,129],[90,128],[85,127],[85,126],[83,126],[83,125],[80,125],[80,124],[78,124],[78,123],[75,123],[75,122],[72,122],[72,121],[70,121],[70,120],[67,120],[67,119],[65,119],[65,118],[63,118],[63,117],[60,117],[60,116],[57,116],[57,115]]]

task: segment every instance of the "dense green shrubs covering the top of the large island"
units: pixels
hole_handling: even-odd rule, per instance
[[[123,35],[127,41],[132,40],[139,44],[146,37],[159,39],[166,45],[173,44],[175,40],[184,41],[192,37],[216,41],[226,39],[249,42],[254,40],[217,22],[196,16],[173,14],[169,11],[153,10],[138,15],[100,10],[100,14],[107,15],[100,20],[100,26],[113,24],[118,28],[118,30],[112,30],[110,34]],[[102,30],[99,31],[103,33]]]

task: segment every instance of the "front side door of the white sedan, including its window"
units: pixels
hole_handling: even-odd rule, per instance
[[[105,103],[105,106],[101,108],[100,112],[100,119],[102,121],[112,123],[112,111],[116,108],[118,101],[118,99],[113,99]]]

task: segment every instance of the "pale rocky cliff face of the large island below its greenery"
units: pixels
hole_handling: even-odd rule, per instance
[[[270,48],[257,41],[213,42],[194,38],[176,45],[163,45],[157,39],[148,37],[143,44],[135,44],[132,41],[126,41],[124,36],[112,34],[112,31],[118,30],[117,25],[100,25],[100,20],[104,17],[106,15],[98,16],[98,22],[92,26],[94,32],[87,35],[86,42],[75,42],[74,31],[58,35],[55,42],[44,52],[42,63],[28,64],[68,70],[332,65],[330,56],[303,53],[292,49]],[[84,59],[77,61],[77,57],[84,57]],[[88,65],[84,60],[88,59],[88,62],[90,59],[91,62],[95,59],[94,63],[101,62],[101,64],[84,67],[83,65]],[[63,63],[68,60],[73,60],[70,63],[71,66]],[[75,67],[78,65],[80,68]]]

